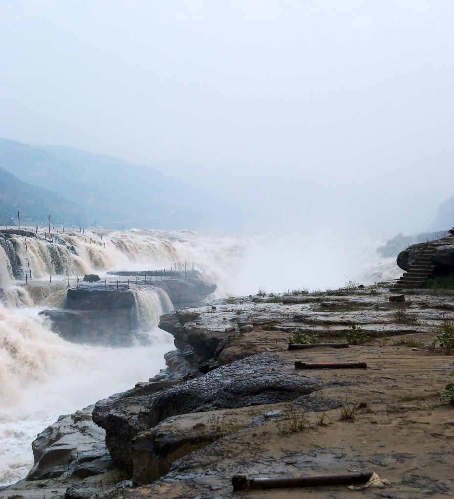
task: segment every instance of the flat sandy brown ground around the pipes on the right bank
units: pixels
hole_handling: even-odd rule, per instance
[[[411,339],[428,344],[430,336],[418,334]],[[394,346],[393,341],[398,339],[374,340],[348,349],[283,352],[289,362],[365,361],[368,369],[308,371],[309,376],[335,378],[341,386],[314,393],[307,398],[306,407],[303,404],[295,409],[297,419],[307,418],[307,429],[284,434],[290,423],[281,418],[240,430],[183,458],[175,472],[158,483],[128,491],[124,497],[454,497],[454,408],[440,405],[438,394],[450,380],[453,359],[440,350],[436,353],[412,350],[412,347]],[[388,345],[380,346],[384,342]],[[342,386],[344,382],[349,384]],[[327,410],[323,420],[326,424],[320,426],[323,412],[310,411],[314,400],[317,404],[325,400],[344,406],[345,402],[366,405],[358,409],[352,420],[340,420],[342,407]],[[253,414],[263,414],[269,409],[276,409],[276,405],[255,407]],[[242,410],[226,414],[226,421],[242,419]],[[253,414],[249,414],[251,419]],[[351,470],[375,471],[388,479],[392,487],[351,491],[339,486],[233,493],[230,484],[231,476],[237,473],[297,477]]]

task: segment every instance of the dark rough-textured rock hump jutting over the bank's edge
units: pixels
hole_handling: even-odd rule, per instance
[[[144,384],[96,404],[93,411],[93,420],[106,430],[113,459],[129,475],[134,439],[169,416],[286,402],[319,388],[316,380],[276,354],[247,357],[161,391],[157,386],[163,388]]]

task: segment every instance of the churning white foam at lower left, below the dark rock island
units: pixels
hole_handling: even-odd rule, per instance
[[[0,484],[24,478],[33,465],[31,441],[59,415],[147,381],[173,347],[156,328],[146,347],[75,345],[33,315],[0,305]]]

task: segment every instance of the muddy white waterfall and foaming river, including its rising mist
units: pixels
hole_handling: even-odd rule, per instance
[[[39,232],[39,231],[38,231]],[[163,355],[173,338],[157,329],[159,316],[172,309],[161,289],[136,284],[136,312],[148,346],[105,348],[68,343],[53,333],[41,309],[62,306],[64,282],[110,270],[199,270],[217,284],[208,301],[259,289],[334,288],[352,280],[369,284],[395,278],[395,260],[381,258],[374,238],[330,235],[277,237],[256,234],[201,234],[190,231],[107,231],[44,238],[13,236],[20,262],[32,274],[34,299],[46,293],[49,276],[57,290],[34,305],[24,282],[15,280],[0,248],[0,483],[24,478],[33,465],[30,444],[61,414],[70,414],[109,395],[146,381],[165,367]],[[102,236],[102,240],[101,240]],[[56,238],[56,239],[55,239]],[[91,242],[90,242],[91,241]],[[104,247],[105,245],[105,247]],[[183,270],[184,271],[184,270]],[[29,275],[29,274],[28,274]],[[184,276],[184,274],[180,274]],[[58,283],[60,282],[60,287]],[[63,287],[63,289],[61,289]]]

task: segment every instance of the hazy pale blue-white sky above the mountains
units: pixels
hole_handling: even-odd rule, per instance
[[[0,136],[298,230],[425,230],[454,194],[453,21],[451,0],[1,0]]]

